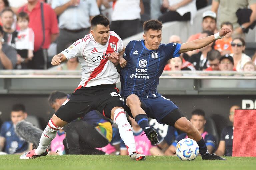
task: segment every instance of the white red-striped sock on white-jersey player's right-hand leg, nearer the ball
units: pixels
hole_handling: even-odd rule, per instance
[[[132,127],[127,120],[123,109],[116,109],[114,112],[114,122],[117,124],[120,137],[126,145],[129,155],[136,151],[135,140],[132,132]]]

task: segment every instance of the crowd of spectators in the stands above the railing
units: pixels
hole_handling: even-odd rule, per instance
[[[144,4],[149,3],[150,11],[144,9]],[[180,59],[171,59],[173,61],[168,61],[165,70],[255,71],[256,52],[253,56],[244,53],[245,35],[256,24],[256,2],[253,0],[240,3],[221,0],[22,0],[16,3],[14,0],[0,0],[0,36],[3,38],[0,69],[51,67],[47,65],[50,60],[48,50],[51,54],[60,53],[84,37],[90,31],[90,19],[100,13],[111,20],[111,30],[125,39],[141,31],[145,16],[163,23],[191,21],[193,24],[197,10],[210,3],[212,10],[205,11],[202,16],[203,31],[191,35],[187,42],[213,35],[221,27],[232,29],[232,33],[207,47],[183,53]],[[170,42],[181,43],[181,39],[179,35],[173,35]],[[228,62],[226,59],[220,61],[223,56]],[[244,69],[246,63],[251,65],[249,70]],[[57,69],[79,68],[77,60],[73,59]]]

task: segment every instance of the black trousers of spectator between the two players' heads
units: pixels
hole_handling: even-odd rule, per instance
[[[125,39],[137,34],[139,25],[139,19],[112,21],[110,24],[110,30],[116,32],[121,39]]]

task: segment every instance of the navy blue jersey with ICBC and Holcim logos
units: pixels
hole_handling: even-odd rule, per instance
[[[144,40],[131,41],[125,48],[123,58],[126,67],[121,70],[121,94],[148,96],[157,93],[157,85],[166,62],[179,56],[181,44],[160,44],[157,50],[149,50]]]

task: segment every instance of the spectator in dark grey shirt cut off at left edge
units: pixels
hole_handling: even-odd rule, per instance
[[[17,63],[16,50],[4,43],[3,29],[0,27],[0,70],[2,69],[14,69]]]

